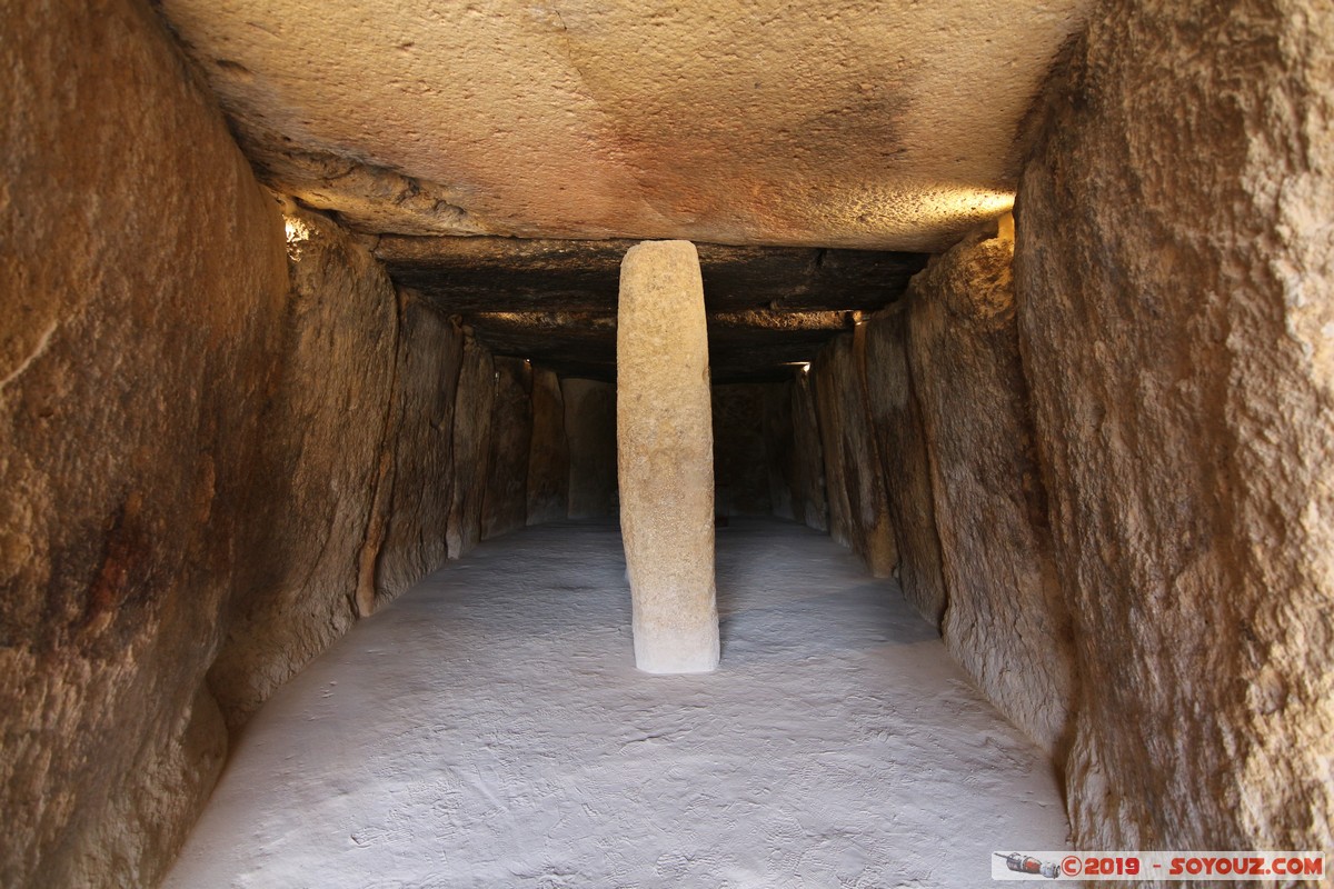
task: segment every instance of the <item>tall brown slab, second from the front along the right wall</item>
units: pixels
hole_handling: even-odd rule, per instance
[[[1062,761],[1073,641],[1019,359],[1013,255],[1013,241],[976,233],[931,260],[908,291],[907,360],[950,593],[946,648]]]

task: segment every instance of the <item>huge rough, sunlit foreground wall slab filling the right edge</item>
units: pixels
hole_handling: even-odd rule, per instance
[[[1089,693],[1074,841],[1334,846],[1334,16],[1106,4],[1015,281]]]

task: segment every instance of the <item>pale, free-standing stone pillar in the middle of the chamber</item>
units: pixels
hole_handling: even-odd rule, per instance
[[[620,265],[616,452],[635,665],[707,673],[718,666],[714,431],[690,241],[646,241]]]

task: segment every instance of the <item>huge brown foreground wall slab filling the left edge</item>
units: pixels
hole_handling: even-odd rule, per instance
[[[155,885],[225,753],[283,223],[144,3],[0,37],[0,885]]]

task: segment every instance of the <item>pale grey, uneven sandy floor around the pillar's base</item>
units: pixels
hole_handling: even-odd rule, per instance
[[[654,677],[614,525],[483,544],[279,690],[167,886],[968,888],[1066,846],[892,582],[787,522],[718,550],[722,669]]]

